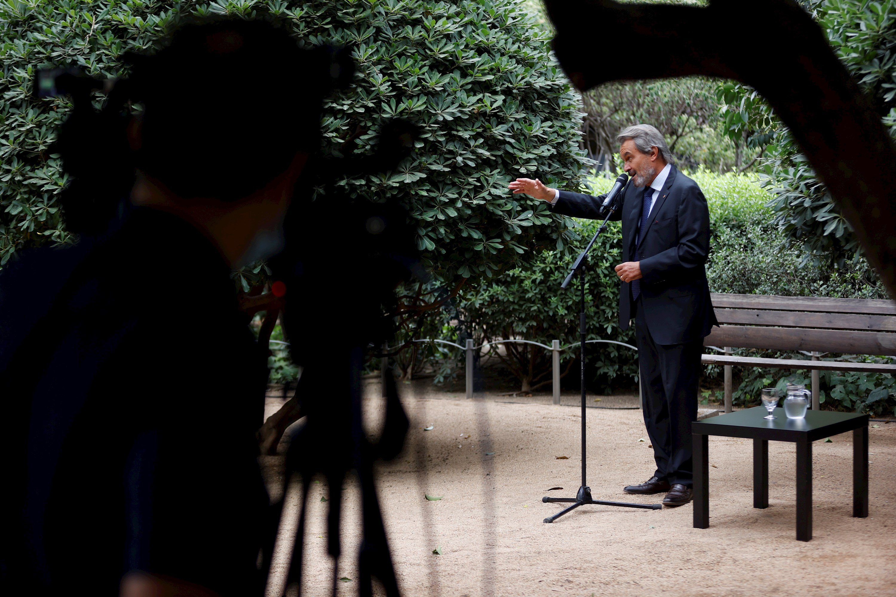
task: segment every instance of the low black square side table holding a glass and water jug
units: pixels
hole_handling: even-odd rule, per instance
[[[769,507],[769,440],[797,444],[797,541],[812,539],[812,442],[852,431],[852,516],[868,516],[868,415],[808,411],[805,419],[763,419],[763,406],[691,423],[694,433],[694,528],[710,526],[710,436],[753,439],[753,507]]]

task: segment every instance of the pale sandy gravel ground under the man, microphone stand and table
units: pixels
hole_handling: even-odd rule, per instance
[[[580,484],[579,409],[550,397],[462,394],[402,388],[411,418],[404,454],[379,470],[379,492],[404,595],[892,595],[896,594],[896,423],[870,429],[870,516],[853,518],[852,436],[814,443],[814,539],[795,540],[793,444],[769,447],[770,507],[754,509],[752,442],[710,439],[710,528],[692,527],[691,505],[663,510],[580,507],[552,525],[560,508],[543,495],[573,497]],[[366,380],[370,412],[379,383]],[[657,503],[622,487],[653,473],[634,397],[602,397],[587,413],[588,477],[595,499]],[[573,404],[574,397],[564,397]],[[590,398],[590,401],[592,399]],[[269,398],[269,414],[280,405]],[[424,427],[432,426],[432,431]],[[369,422],[371,429],[376,421]],[[284,448],[286,440],[281,443]],[[494,452],[494,455],[489,454]],[[557,456],[569,456],[557,459]],[[273,480],[282,456],[266,456]],[[330,593],[323,480],[308,500],[303,595]],[[279,595],[297,520],[297,487],[287,492],[269,595]],[[562,487],[562,490],[551,488]],[[339,595],[357,594],[359,495],[346,483]],[[424,495],[442,496],[429,501]],[[439,548],[441,555],[433,550]]]

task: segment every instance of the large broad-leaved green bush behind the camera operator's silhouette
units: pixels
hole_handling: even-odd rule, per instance
[[[327,104],[324,153],[372,152],[394,117],[422,128],[397,171],[340,184],[407,206],[437,279],[488,277],[573,239],[564,218],[507,192],[511,177],[533,173],[575,187],[586,167],[576,96],[547,33],[513,0],[11,0],[0,4],[0,265],[22,247],[72,240],[56,204],[65,178],[47,155],[70,105],[31,98],[35,70],[121,75],[126,50],[152,50],[178,22],[213,14],[276,19],[302,44],[354,47],[356,84]],[[273,125],[258,116],[234,107],[247,126]]]

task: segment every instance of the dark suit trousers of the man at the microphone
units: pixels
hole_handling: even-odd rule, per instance
[[[691,422],[697,420],[702,339],[659,345],[650,337],[642,303],[635,303],[634,333],[641,370],[642,412],[658,479],[688,487],[694,483]]]

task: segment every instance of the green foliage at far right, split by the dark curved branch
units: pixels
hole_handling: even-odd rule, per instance
[[[896,6],[871,0],[801,4],[814,14],[833,50],[896,134]],[[845,267],[857,256],[856,238],[786,127],[743,85],[723,85],[719,99],[728,135],[743,135],[752,148],[766,150],[764,185],[774,195],[774,224],[804,252],[805,260]]]

